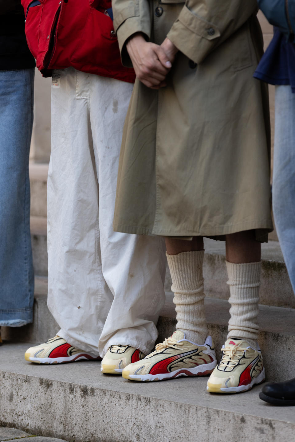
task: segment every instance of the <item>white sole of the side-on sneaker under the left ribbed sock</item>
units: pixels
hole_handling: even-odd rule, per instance
[[[129,370],[123,370],[122,376],[130,381],[165,381],[166,379],[175,379],[180,376],[206,376],[211,374],[215,369],[217,361],[210,362],[210,364],[202,364],[195,368],[181,368],[179,370],[172,371],[171,373],[161,374],[130,374]],[[138,368],[139,370],[139,368]]]

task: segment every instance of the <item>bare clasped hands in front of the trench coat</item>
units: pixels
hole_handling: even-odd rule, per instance
[[[166,86],[165,78],[172,67],[178,49],[165,38],[161,46],[146,42],[141,33],[132,35],[126,44],[138,79],[151,89]]]

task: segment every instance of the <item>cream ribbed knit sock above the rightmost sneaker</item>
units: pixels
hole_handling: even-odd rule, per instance
[[[245,339],[256,348],[261,262],[233,264],[226,261],[226,269],[231,304],[227,339]]]

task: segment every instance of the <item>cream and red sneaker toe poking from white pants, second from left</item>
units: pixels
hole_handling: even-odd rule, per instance
[[[100,371],[121,374],[126,365],[137,362],[145,355],[129,345],[111,345],[100,364]]]

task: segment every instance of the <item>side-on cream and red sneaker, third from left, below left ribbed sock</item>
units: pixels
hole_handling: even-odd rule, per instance
[[[176,330],[170,338],[156,345],[156,350],[141,361],[124,368],[122,376],[131,381],[164,381],[180,376],[205,376],[216,366],[211,336],[198,345]]]

